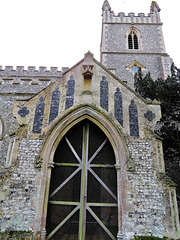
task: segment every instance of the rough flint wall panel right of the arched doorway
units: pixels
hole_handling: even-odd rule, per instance
[[[158,169],[152,158],[150,142],[129,142],[130,156],[135,161],[135,171],[128,175],[129,193],[133,205],[132,221],[135,235],[153,234],[162,237],[167,231],[162,222],[165,217],[164,190],[157,178]]]

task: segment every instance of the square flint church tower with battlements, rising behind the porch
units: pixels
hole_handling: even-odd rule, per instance
[[[171,59],[166,53],[160,8],[152,1],[150,13],[137,16],[130,12],[117,15],[108,0],[102,7],[101,63],[134,88],[134,74],[151,73],[153,79],[171,74]]]

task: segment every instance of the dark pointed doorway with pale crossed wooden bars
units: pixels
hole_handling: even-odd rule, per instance
[[[89,120],[72,127],[54,154],[46,239],[116,239],[117,176],[112,146]]]

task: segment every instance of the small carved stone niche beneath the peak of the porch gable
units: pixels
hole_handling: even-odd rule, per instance
[[[84,76],[83,92],[91,93],[92,90],[92,76],[93,76],[93,65],[83,65],[82,75]]]

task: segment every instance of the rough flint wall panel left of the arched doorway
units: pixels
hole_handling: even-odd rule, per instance
[[[36,211],[37,183],[35,168],[42,140],[17,141],[18,156],[9,177],[3,182],[4,199],[0,202],[0,231],[31,231]]]

